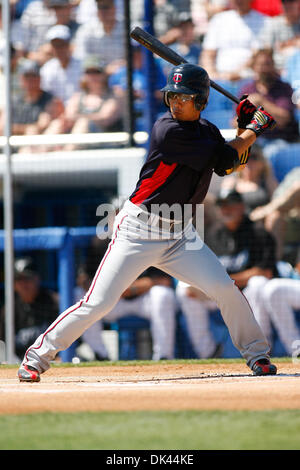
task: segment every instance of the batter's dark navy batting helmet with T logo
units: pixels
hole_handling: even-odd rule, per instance
[[[194,64],[180,64],[171,69],[167,84],[160,91],[164,92],[167,106],[169,106],[168,91],[196,95],[195,107],[202,110],[208,100],[209,87],[210,80],[206,70]]]

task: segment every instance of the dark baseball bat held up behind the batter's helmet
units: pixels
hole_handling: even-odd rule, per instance
[[[173,65],[187,63],[187,61],[183,57],[181,57],[179,54],[173,51],[170,47],[163,44],[159,39],[152,36],[152,34],[144,31],[139,26],[136,26],[135,28],[133,28],[133,30],[130,33],[130,36],[133,39],[135,39],[137,42],[142,44],[142,46],[149,49],[149,51],[157,54],[159,57],[162,57],[167,62],[170,62]],[[214,88],[215,90],[217,90],[219,93],[222,93],[222,95],[226,96],[234,103],[239,104],[240,100],[236,96],[234,96],[228,90],[225,90],[225,88],[221,87],[220,85],[218,85],[216,82],[214,82],[211,79],[210,79],[210,86]]]

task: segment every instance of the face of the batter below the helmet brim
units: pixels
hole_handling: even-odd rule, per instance
[[[168,93],[172,117],[178,121],[195,121],[200,111],[195,108],[195,96],[184,93]]]

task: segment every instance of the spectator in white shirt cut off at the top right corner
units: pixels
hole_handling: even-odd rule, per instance
[[[300,47],[300,1],[282,0],[282,14],[268,18],[259,39],[261,47],[274,50],[276,68],[282,73]]]

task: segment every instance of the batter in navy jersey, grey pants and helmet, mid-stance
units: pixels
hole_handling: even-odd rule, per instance
[[[269,344],[248,302],[192,223],[213,172],[225,176],[237,171],[249,147],[275,121],[243,99],[237,107],[239,136],[227,143],[216,126],[201,119],[209,89],[203,68],[185,63],[171,69],[162,89],[168,110],[153,126],[139,180],[115,219],[111,242],[91,286],[26,351],[18,371],[20,381],[39,381],[56,355],[103,318],[150,266],[214,300],[253,374],[276,374]]]

